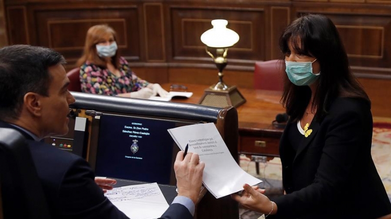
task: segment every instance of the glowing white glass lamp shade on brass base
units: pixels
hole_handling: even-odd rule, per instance
[[[205,31],[201,35],[201,41],[205,45],[214,48],[227,48],[235,45],[239,41],[239,35],[228,29],[227,20],[212,20],[212,29]]]

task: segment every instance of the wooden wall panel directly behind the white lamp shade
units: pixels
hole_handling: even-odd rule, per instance
[[[212,28],[212,19],[227,19],[227,27],[239,34],[239,42],[229,49],[231,63],[245,63],[248,60],[264,60],[264,12],[249,8],[193,8],[172,7],[171,22],[173,35],[172,60],[210,61],[201,42],[202,33]],[[205,59],[206,58],[206,59]],[[253,63],[253,62],[252,62]]]

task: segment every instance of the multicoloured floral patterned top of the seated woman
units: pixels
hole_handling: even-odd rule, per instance
[[[80,67],[80,83],[82,92],[106,94],[115,96],[119,93],[138,91],[146,87],[149,82],[143,80],[130,70],[128,61],[120,57],[120,76],[116,76],[109,69],[102,69],[86,61]]]

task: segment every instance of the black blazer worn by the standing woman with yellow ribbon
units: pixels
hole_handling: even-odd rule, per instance
[[[370,154],[372,115],[358,98],[338,98],[295,152],[280,141],[282,182],[287,195],[273,200],[283,219],[375,219],[391,204]]]

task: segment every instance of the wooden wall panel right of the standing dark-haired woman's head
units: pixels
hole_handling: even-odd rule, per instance
[[[391,15],[326,15],[338,28],[350,65],[391,68]]]

